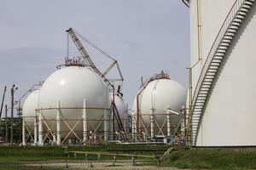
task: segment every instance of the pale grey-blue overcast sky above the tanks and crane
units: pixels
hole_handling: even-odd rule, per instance
[[[19,99],[63,63],[69,27],[118,59],[130,107],[140,77],[164,70],[188,87],[189,9],[181,0],[0,2],[0,99],[8,86],[7,105],[13,83],[19,87],[15,93]],[[102,61],[102,55],[88,49],[92,59]],[[70,50],[79,55],[73,46]]]

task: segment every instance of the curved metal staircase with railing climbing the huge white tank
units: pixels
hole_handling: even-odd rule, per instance
[[[195,87],[189,113],[188,140],[192,146],[196,144],[203,111],[208,94],[212,88],[212,82],[217,75],[218,68],[222,64],[227,50],[230,48],[232,39],[236,36],[236,32],[239,30],[243,20],[253,7],[253,3],[254,0],[236,0],[218,31],[218,35],[207,55]]]

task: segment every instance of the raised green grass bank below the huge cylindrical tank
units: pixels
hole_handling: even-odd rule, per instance
[[[161,165],[193,169],[256,169],[256,150],[174,150]]]

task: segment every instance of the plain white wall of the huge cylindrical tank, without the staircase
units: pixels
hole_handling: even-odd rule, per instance
[[[241,22],[221,60],[197,126],[195,146],[255,146],[256,136],[256,4],[246,0],[190,0],[192,87],[196,83],[224,20],[231,11],[236,17],[246,2]],[[241,12],[240,12],[241,14]],[[237,17],[238,18],[238,17]],[[241,16],[240,16],[241,18]],[[234,18],[228,18],[230,20]],[[229,27],[229,25],[224,25]],[[230,33],[232,35],[232,33]]]

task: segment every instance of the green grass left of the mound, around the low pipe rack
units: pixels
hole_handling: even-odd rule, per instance
[[[79,151],[110,151],[110,150],[134,150],[134,149],[166,149],[164,145],[119,145],[108,144],[101,146],[78,146],[68,147],[67,150],[79,150]],[[33,169],[67,169],[64,167],[25,167],[20,165],[19,161],[48,161],[48,160],[73,160],[73,156],[67,157],[65,149],[58,146],[44,146],[44,147],[32,147],[32,146],[0,146],[0,170],[33,170]],[[144,151],[148,154],[147,151]],[[132,152],[133,153],[133,152]],[[143,153],[144,154],[144,153]],[[77,159],[84,160],[83,155],[77,155]],[[89,156],[89,160],[96,160],[97,156]],[[102,160],[113,160],[113,156],[101,156]],[[119,157],[119,159],[128,159],[127,157]],[[129,158],[131,159],[131,158]]]

